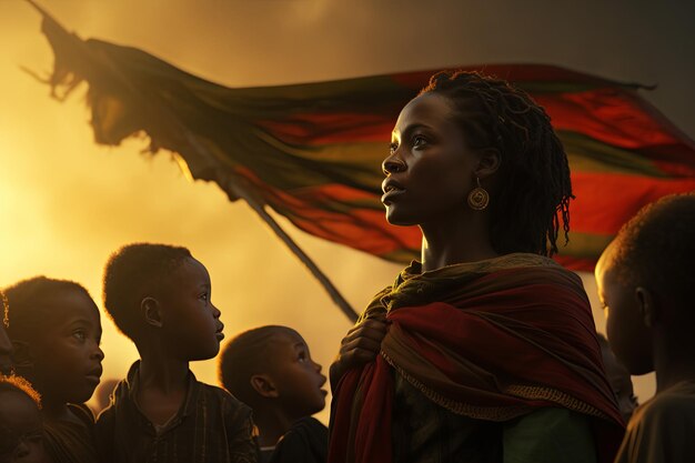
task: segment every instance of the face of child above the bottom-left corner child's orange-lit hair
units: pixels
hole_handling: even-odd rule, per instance
[[[81,291],[62,291],[51,298],[43,333],[33,349],[31,380],[44,401],[82,403],[101,378],[103,352],[99,310]]]

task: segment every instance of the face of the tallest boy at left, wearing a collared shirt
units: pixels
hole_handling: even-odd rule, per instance
[[[205,266],[195,259],[187,259],[172,272],[165,288],[159,300],[163,335],[171,354],[185,361],[215,356],[224,339],[224,325],[211,301]]]

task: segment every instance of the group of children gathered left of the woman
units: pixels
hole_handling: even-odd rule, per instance
[[[299,333],[264,326],[229,342],[220,375],[234,395],[189,370],[224,339],[210,275],[189,250],[131,244],[107,263],[105,310],[140,360],[97,420],[84,402],[104,353],[87,290],[38,276],[2,298],[0,462],[325,461],[328,429],[311,415],[326,379]]]

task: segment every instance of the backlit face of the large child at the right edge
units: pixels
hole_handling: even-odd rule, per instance
[[[622,282],[612,268],[608,248],[596,265],[598,299],[606,315],[606,334],[616,359],[631,374],[654,370],[651,332],[644,324],[635,288]]]

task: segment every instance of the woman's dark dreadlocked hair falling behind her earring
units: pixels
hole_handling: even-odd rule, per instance
[[[500,153],[498,188],[490,201],[494,250],[556,253],[560,220],[568,241],[574,197],[567,155],[543,108],[508,82],[480,72],[439,72],[423,93],[449,99],[471,149]]]

